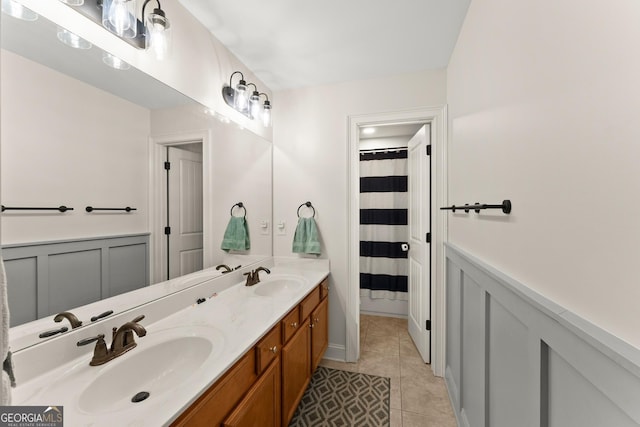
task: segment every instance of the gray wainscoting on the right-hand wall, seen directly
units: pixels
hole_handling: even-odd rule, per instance
[[[446,280],[459,425],[640,426],[640,350],[451,244]]]

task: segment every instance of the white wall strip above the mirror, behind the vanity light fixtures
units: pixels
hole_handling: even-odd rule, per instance
[[[171,22],[173,46],[171,55],[158,61],[151,52],[132,47],[60,1],[18,1],[202,105],[227,116],[263,138],[272,139],[271,128],[264,128],[260,120],[248,120],[227,106],[221,92],[223,85],[229,84],[231,73],[236,70],[242,71],[247,82],[254,82],[261,92],[266,92],[271,98],[269,88],[179,2],[162,4]],[[237,83],[236,78],[237,76],[234,84]],[[272,104],[275,111],[278,105],[276,102]]]

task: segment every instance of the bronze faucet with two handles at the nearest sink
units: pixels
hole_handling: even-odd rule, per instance
[[[91,362],[89,362],[89,365],[103,365],[138,345],[133,337],[133,333],[135,332],[139,337],[147,335],[147,330],[144,326],[138,323],[142,319],[144,319],[144,316],[138,316],[131,322],[127,322],[119,328],[113,328],[113,337],[109,348],[107,348],[107,344],[104,341],[104,334],[78,341],[78,346],[87,345],[97,341],[96,347],[93,350],[93,358],[91,359]]]

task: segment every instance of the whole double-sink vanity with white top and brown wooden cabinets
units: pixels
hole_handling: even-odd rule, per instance
[[[12,404],[63,406],[73,426],[288,425],[328,345],[328,261],[198,274],[201,283],[15,352]]]

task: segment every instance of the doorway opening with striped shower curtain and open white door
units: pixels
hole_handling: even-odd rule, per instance
[[[431,320],[428,145],[429,124],[360,128],[360,314],[406,319],[425,363],[431,361],[423,326]]]

